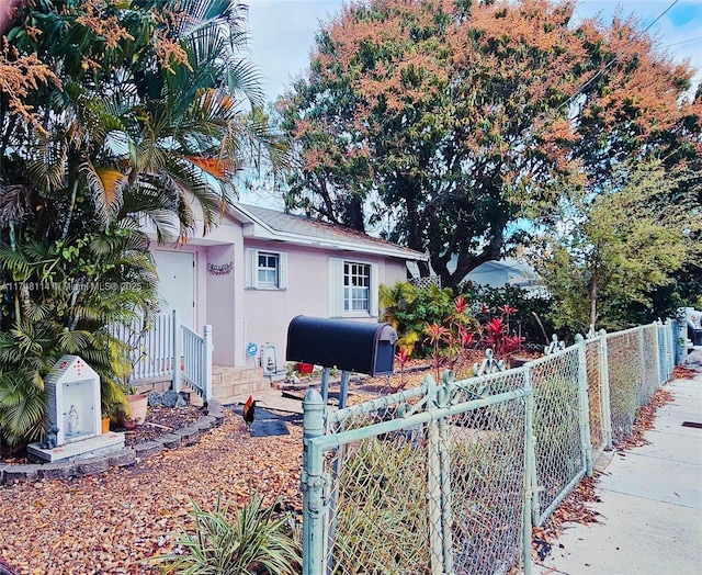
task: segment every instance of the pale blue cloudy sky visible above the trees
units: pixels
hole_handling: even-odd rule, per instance
[[[309,64],[319,23],[329,21],[341,0],[242,0],[249,5],[252,60],[260,67],[264,89],[273,101]],[[576,18],[601,13],[605,22],[621,5],[625,15],[634,13],[648,26],[673,0],[601,1],[579,0]],[[691,58],[702,79],[702,0],[678,0],[650,29],[660,46],[676,59]]]

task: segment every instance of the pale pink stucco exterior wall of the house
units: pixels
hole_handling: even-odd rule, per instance
[[[246,247],[287,253],[287,289],[253,290],[245,288]],[[212,234],[194,237],[180,247],[152,246],[152,249],[177,249],[194,253],[195,329],[208,324],[213,328],[214,363],[222,365],[258,365],[258,356],[247,354],[247,345],[261,347],[271,342],[278,352],[279,367],[285,367],[287,326],[297,315],[329,316],[328,261],[344,258],[377,264],[381,284],[394,285],[407,277],[404,260],[292,246],[281,241],[247,240],[241,226],[225,219]],[[216,274],[208,264],[226,266],[229,273]],[[377,322],[377,317],[350,322]]]

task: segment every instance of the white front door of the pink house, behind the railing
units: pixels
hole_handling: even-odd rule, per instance
[[[178,309],[181,323],[195,329],[195,259],[190,251],[156,250],[161,309]]]

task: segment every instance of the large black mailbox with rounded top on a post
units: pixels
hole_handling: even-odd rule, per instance
[[[397,332],[389,324],[294,317],[287,327],[287,361],[342,371],[393,373]]]

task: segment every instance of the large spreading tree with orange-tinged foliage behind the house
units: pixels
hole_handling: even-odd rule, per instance
[[[287,205],[428,251],[444,285],[625,158],[699,157],[692,70],[570,2],[367,0],[322,25],[279,101]],[[430,273],[428,266],[422,274]]]

